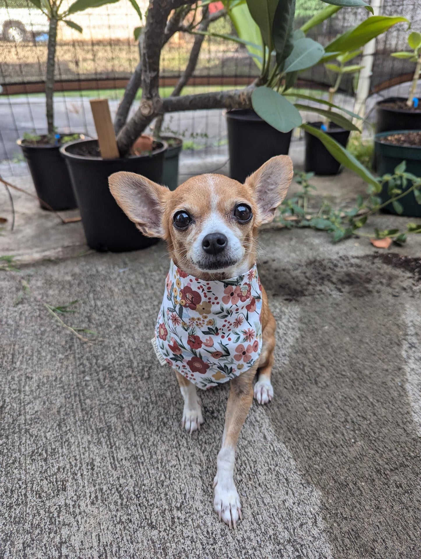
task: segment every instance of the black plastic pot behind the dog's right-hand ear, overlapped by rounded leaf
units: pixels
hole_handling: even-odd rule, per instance
[[[245,179],[275,155],[287,155],[290,132],[280,132],[267,124],[251,109],[233,109],[226,112],[230,177]]]

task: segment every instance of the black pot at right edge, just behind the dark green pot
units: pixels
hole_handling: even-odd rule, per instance
[[[393,130],[420,130],[421,110],[387,106],[398,102],[405,105],[405,97],[387,97],[376,103],[376,133]]]

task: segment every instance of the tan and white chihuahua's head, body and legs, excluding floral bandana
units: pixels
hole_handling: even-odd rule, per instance
[[[217,174],[188,179],[175,191],[134,173],[111,175],[110,190],[126,215],[148,236],[165,239],[173,262],[203,281],[245,274],[256,262],[257,231],[272,221],[292,179],[287,155],[273,157],[240,184]],[[214,508],[234,526],[241,505],[234,484],[235,447],[253,401],[273,397],[271,372],[276,323],[262,288],[262,350],[258,362],[230,381],[222,446],[216,461]],[[253,380],[258,371],[258,380]],[[184,399],[182,425],[192,432],[203,423],[196,386],[176,372]]]

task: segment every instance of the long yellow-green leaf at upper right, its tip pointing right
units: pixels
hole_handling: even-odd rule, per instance
[[[349,29],[342,35],[339,35],[335,40],[330,42],[324,50],[327,53],[333,53],[335,51],[344,53],[350,50],[359,49],[371,39],[381,35],[390,29],[390,27],[396,25],[396,23],[401,22],[409,23],[406,17],[401,16],[371,16],[357,25],[357,27]]]

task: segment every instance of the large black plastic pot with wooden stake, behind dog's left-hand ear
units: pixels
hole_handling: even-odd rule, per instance
[[[158,141],[150,154],[119,159],[99,157],[98,140],[72,142],[60,149],[72,179],[89,247],[125,252],[157,243],[158,239],[142,235],[120,209],[111,195],[108,177],[118,171],[129,171],[162,183],[166,149],[167,144]]]

